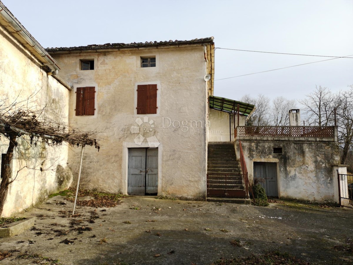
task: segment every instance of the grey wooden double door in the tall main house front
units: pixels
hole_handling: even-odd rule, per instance
[[[157,195],[158,148],[128,149],[127,193]]]

